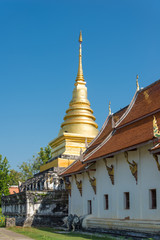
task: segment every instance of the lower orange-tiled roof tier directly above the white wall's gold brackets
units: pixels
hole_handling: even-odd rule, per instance
[[[156,114],[160,122],[160,112]],[[97,158],[113,155],[119,151],[137,147],[137,145],[153,140],[153,116],[149,116],[138,122],[127,125],[115,131],[113,136],[104,143],[96,152],[85,157],[90,161]]]

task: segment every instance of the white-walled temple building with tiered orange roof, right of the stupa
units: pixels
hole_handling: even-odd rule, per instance
[[[160,231],[160,80],[137,90],[61,177],[86,228]]]

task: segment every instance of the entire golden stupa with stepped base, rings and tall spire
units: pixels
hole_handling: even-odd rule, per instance
[[[79,66],[72,100],[66,111],[58,137],[49,143],[52,148],[52,159],[41,166],[41,172],[53,167],[68,167],[98,134],[98,125],[87,99],[87,87],[82,69],[81,45],[82,33],[80,32]]]

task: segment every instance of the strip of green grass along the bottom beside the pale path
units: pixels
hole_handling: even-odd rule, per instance
[[[35,240],[115,240],[115,237],[107,236],[106,234],[80,234],[76,232],[63,233],[58,232],[53,228],[9,228],[16,233],[23,234]]]

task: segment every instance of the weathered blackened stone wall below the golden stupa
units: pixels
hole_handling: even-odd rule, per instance
[[[60,226],[68,214],[65,190],[24,191],[2,197],[2,213],[15,217],[17,226]]]

